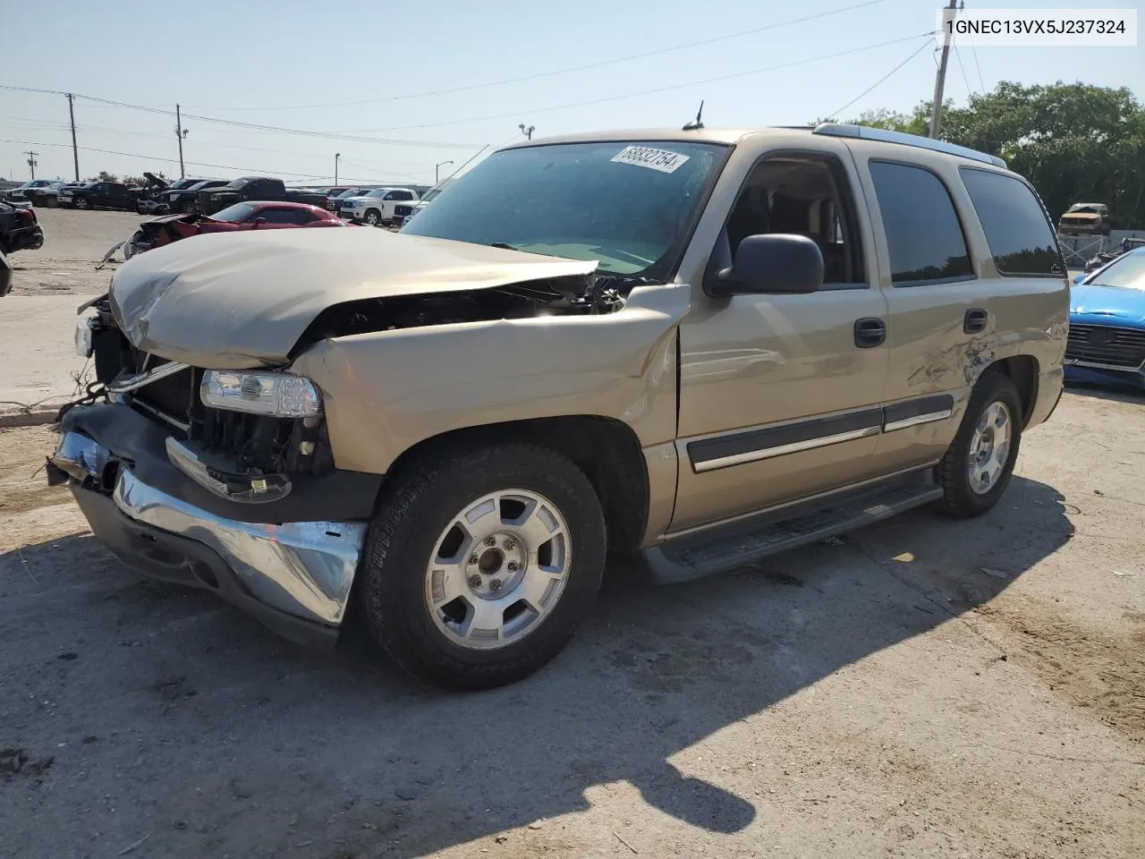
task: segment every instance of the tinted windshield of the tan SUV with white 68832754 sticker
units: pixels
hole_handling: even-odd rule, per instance
[[[668,277],[663,269],[726,151],[674,141],[507,149],[457,179],[449,197],[426,206],[402,233]]]

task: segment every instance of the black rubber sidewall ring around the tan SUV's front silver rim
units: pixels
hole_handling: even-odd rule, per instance
[[[491,466],[487,468],[474,467],[472,460],[465,458],[437,471],[434,480],[403,512],[390,535],[382,564],[379,566],[369,559],[362,593],[368,622],[373,624],[380,620],[384,625],[397,626],[387,630],[382,638],[396,635],[403,644],[418,643],[420,661],[432,673],[521,663],[530,667],[507,670],[523,676],[555,655],[587,614],[600,590],[606,531],[592,484],[563,457],[556,457],[556,462],[564,467],[552,467],[551,459],[555,455],[537,462],[534,456],[521,452],[518,450],[512,459],[493,455],[487,459]],[[466,505],[503,489],[536,492],[560,511],[569,528],[571,565],[556,606],[538,626],[508,646],[471,649],[450,640],[434,622],[425,599],[426,568],[449,522]]]

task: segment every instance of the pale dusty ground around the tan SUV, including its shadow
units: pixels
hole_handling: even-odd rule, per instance
[[[0,856],[1145,856],[1143,397],[1067,394],[977,521],[613,569],[560,659],[473,695],[141,581],[53,443],[0,431]]]

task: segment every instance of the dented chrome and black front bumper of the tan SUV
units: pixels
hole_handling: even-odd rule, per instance
[[[88,411],[117,408],[126,407]],[[116,557],[144,575],[213,590],[291,640],[333,646],[365,542],[364,520],[252,522],[206,510],[179,497],[184,491],[144,482],[141,472],[156,473],[155,463],[141,467],[80,432],[70,417],[48,479],[70,482],[92,533]],[[246,512],[229,506],[235,515]]]

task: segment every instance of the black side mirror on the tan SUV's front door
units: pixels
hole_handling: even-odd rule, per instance
[[[713,295],[816,292],[823,285],[823,254],[806,236],[776,233],[747,236],[732,266],[720,269]]]

